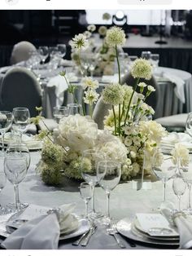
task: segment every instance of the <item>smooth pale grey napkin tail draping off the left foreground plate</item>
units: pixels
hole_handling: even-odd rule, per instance
[[[60,227],[55,213],[34,218],[2,243],[6,249],[58,249]]]

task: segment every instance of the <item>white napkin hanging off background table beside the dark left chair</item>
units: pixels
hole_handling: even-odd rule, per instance
[[[60,75],[50,78],[50,81],[47,83],[48,87],[55,86],[55,96],[57,98],[56,105],[60,106],[63,104],[64,91],[68,89],[68,84],[65,81],[64,77]]]

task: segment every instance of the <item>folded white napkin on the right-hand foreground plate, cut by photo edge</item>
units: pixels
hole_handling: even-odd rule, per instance
[[[161,212],[176,225],[180,236],[180,249],[192,249],[192,216],[175,210],[175,207],[169,203],[161,206]]]

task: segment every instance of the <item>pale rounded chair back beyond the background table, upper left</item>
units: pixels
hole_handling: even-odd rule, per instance
[[[18,42],[11,52],[11,64],[17,64],[21,61],[28,60],[32,51],[37,51],[37,49],[31,42]]]

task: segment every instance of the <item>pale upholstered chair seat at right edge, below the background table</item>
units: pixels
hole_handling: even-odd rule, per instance
[[[156,122],[164,126],[168,131],[185,131],[185,123],[188,113],[181,113],[177,115],[172,115],[168,117],[160,117],[155,119]]]

